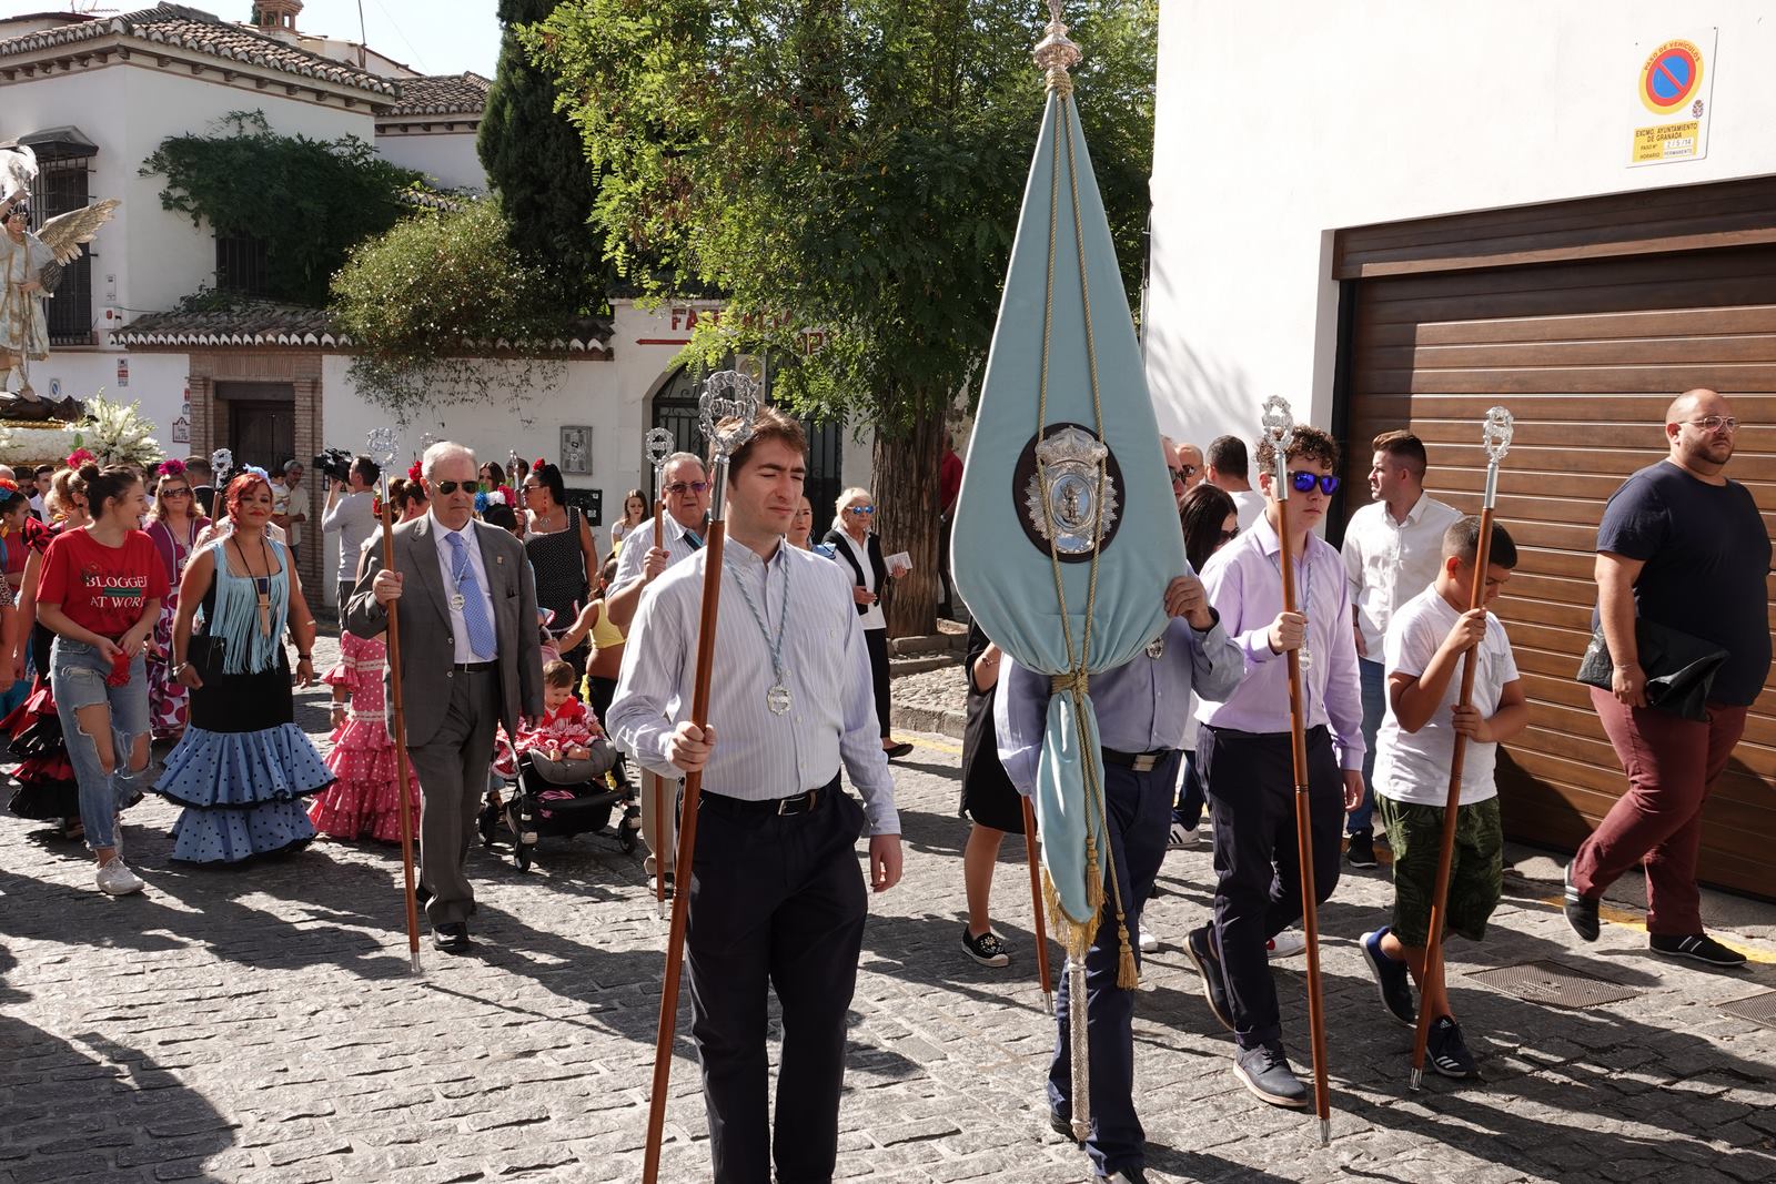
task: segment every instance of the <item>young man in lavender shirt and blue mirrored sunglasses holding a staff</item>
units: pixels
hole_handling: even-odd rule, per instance
[[[1350,630],[1344,564],[1314,534],[1337,490],[1337,444],[1296,428],[1288,453],[1289,554],[1296,611],[1282,611],[1282,554],[1273,488],[1275,449],[1257,446],[1265,517],[1202,570],[1222,628],[1245,653],[1245,680],[1217,701],[1201,696],[1197,763],[1215,811],[1215,920],[1190,934],[1215,1017],[1234,1033],[1234,1074],[1273,1106],[1307,1106],[1282,1049],[1277,987],[1265,944],[1302,918],[1302,870],[1289,754],[1289,671],[1302,659],[1314,895],[1337,888],[1344,813],[1362,801],[1362,691]]]

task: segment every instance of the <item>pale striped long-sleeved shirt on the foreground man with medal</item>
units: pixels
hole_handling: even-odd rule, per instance
[[[829,783],[844,762],[863,795],[870,834],[899,834],[893,777],[876,724],[870,657],[849,575],[829,559],[781,541],[769,563],[737,543],[725,550],[709,696],[716,747],[703,769],[703,788],[746,801],[790,797]],[[641,593],[606,717],[616,746],[662,777],[682,776],[666,758],[666,742],[691,717],[707,566],[709,550],[698,549]],[[771,644],[742,598],[742,584],[771,637],[785,620],[789,596],[781,657],[792,701],[781,715],[765,706],[774,682]]]

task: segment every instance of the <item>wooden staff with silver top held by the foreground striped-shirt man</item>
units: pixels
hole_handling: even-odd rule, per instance
[[[719,371],[703,380],[698,410],[710,447],[709,538],[703,541],[703,604],[696,632],[696,680],[691,685],[691,722],[709,726],[709,682],[716,664],[716,614],[721,607],[721,552],[726,543],[728,458],[753,435],[762,403],[758,380],[741,371]],[[654,1038],[654,1088],[648,1095],[648,1140],[641,1161],[643,1184],[657,1184],[661,1136],[666,1127],[666,1083],[671,1077],[673,1030],[678,1022],[678,971],[684,966],[684,925],[691,900],[691,861],[696,850],[696,806],[703,795],[702,770],[684,779],[678,824],[671,930],[666,935],[666,980],[661,983],[661,1022]],[[664,818],[661,818],[664,822]],[[655,852],[654,861],[664,859]]]

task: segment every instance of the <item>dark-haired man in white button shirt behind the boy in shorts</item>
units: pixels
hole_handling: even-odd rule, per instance
[[[1368,506],[1344,527],[1344,579],[1350,584],[1357,671],[1362,678],[1362,804],[1344,820],[1344,859],[1375,866],[1375,738],[1387,715],[1387,667],[1382,643],[1394,611],[1431,586],[1442,561],[1442,536],[1462,518],[1424,492],[1430,458],[1410,431],[1384,431],[1371,446]]]

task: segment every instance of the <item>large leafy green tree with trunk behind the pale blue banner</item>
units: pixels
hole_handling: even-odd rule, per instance
[[[1085,133],[1138,286],[1156,0],[1090,0]],[[1044,101],[1034,0],[565,0],[520,30],[600,178],[606,256],[730,298],[687,348],[769,351],[801,412],[877,428],[884,541],[936,572],[945,415],[980,376]],[[797,348],[819,328],[829,344]],[[886,598],[931,632],[934,580]]]

